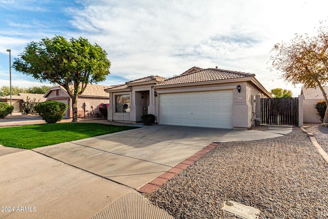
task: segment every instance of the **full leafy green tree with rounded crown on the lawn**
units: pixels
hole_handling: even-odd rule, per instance
[[[63,86],[72,98],[73,120],[77,122],[77,98],[88,84],[105,81],[110,73],[107,53],[97,44],[79,37],[69,41],[63,36],[41,39],[27,45],[15,58],[16,71],[31,75],[39,81]]]

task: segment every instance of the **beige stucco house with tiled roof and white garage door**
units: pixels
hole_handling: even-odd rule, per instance
[[[272,97],[255,74],[198,67],[169,79],[136,79],[106,92],[110,121],[136,123],[151,113],[159,124],[227,129],[251,127],[255,96]]]

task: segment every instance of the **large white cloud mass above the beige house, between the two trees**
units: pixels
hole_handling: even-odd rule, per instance
[[[89,1],[72,24],[108,53],[112,74],[170,77],[192,66],[255,73],[268,90],[294,90],[268,70],[275,43],[311,33],[328,2]]]

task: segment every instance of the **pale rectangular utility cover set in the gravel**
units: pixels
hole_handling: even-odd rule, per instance
[[[260,210],[234,201],[223,202],[223,211],[244,219],[257,219]]]

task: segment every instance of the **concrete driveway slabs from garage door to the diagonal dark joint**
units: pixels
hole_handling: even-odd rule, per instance
[[[144,126],[33,150],[138,189],[230,131]]]

